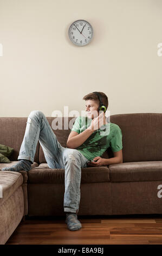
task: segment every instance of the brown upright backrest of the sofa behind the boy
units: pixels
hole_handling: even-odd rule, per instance
[[[51,127],[54,119],[55,117],[47,117]],[[61,119],[64,129],[64,119],[67,118]],[[75,119],[69,117],[68,124],[70,120],[74,123]],[[110,121],[119,125],[122,131],[124,162],[162,161],[162,113],[116,114],[111,115]],[[14,148],[9,157],[11,161],[17,161],[26,122],[27,118],[23,117],[0,117],[0,144]],[[70,129],[53,131],[60,144],[66,147]],[[102,157],[113,157],[111,148]],[[37,144],[34,161],[46,163],[40,143]]]

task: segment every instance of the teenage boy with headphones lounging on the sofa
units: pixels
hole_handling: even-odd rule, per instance
[[[29,171],[32,168],[31,164],[34,162],[36,146],[39,141],[48,167],[65,170],[63,206],[66,213],[66,223],[71,231],[82,227],[80,221],[77,220],[81,168],[122,163],[121,129],[116,124],[107,123],[105,112],[99,112],[101,104],[99,96],[102,97],[102,104],[107,109],[108,98],[106,94],[95,92],[84,96],[87,117],[76,118],[67,140],[67,148],[62,147],[57,141],[45,115],[41,111],[31,111],[17,159],[19,162],[15,166],[2,169],[13,172]],[[104,133],[103,128],[106,130],[107,127],[109,132]],[[111,147],[114,157],[103,159],[101,156],[108,147]]]

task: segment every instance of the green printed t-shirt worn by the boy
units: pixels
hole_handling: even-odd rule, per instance
[[[91,124],[92,119],[87,117],[77,117],[71,131],[81,133],[85,131]],[[96,156],[102,154],[111,147],[113,152],[122,149],[122,132],[118,125],[108,122],[102,125],[90,135],[86,141],[80,145],[79,150],[88,160],[93,160]]]

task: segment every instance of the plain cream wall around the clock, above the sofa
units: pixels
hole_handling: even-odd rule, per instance
[[[78,19],[93,26],[87,46],[68,38]],[[161,0],[0,0],[0,116],[81,112],[93,91],[111,114],[162,113],[159,42]]]

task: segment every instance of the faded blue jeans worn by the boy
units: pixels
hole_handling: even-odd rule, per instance
[[[34,162],[38,141],[48,167],[64,169],[64,211],[77,213],[80,203],[81,168],[87,167],[88,159],[77,149],[62,147],[45,115],[34,110],[29,114],[17,160],[26,159]]]

